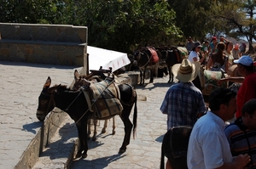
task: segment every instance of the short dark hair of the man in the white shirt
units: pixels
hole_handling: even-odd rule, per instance
[[[209,95],[209,108],[212,111],[217,111],[220,104],[229,105],[230,100],[236,97],[236,92],[230,88],[220,87]]]

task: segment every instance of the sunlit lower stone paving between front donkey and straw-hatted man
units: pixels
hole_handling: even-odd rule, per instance
[[[148,84],[149,80],[146,80]],[[119,155],[119,147],[124,137],[124,125],[118,116],[115,117],[116,132],[112,135],[112,120],[108,123],[107,133],[102,134],[103,121],[98,127],[96,142],[89,141],[86,159],[73,161],[72,169],[157,169],[160,167],[160,150],[166,133],[166,115],[160,112],[166,91],[171,84],[167,77],[154,79],[145,87],[137,86],[137,137],[132,139],[124,154]],[[146,96],[147,100],[143,101]],[[132,111],[133,112],[133,111]],[[131,114],[131,120],[132,120]]]

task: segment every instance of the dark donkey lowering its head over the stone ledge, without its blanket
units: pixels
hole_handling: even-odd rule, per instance
[[[95,116],[94,112],[90,111],[83,91],[72,90],[67,86],[55,85],[50,87],[51,79],[48,77],[44,83],[42,92],[38,97],[37,115],[47,115],[55,107],[65,110],[68,115],[75,121],[79,132],[79,150],[76,158],[87,157],[87,122],[89,119],[105,120],[112,116],[106,116],[104,119]],[[119,112],[119,116],[125,125],[125,137],[122,146],[119,148],[119,153],[124,153],[128,144],[130,144],[131,130],[133,127],[133,138],[137,129],[137,93],[133,87],[127,84],[119,84],[120,102],[123,110]],[[89,92],[90,93],[90,92]],[[134,105],[133,123],[129,116]]]

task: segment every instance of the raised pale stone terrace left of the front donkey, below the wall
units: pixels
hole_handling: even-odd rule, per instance
[[[38,96],[47,77],[52,85],[73,82],[79,67],[0,61],[0,168],[13,169],[43,122],[38,121]]]

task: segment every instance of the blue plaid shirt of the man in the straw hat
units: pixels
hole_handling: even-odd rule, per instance
[[[172,85],[160,106],[163,114],[167,114],[167,129],[177,126],[193,127],[196,115],[206,111],[201,91],[193,82],[180,82]]]

